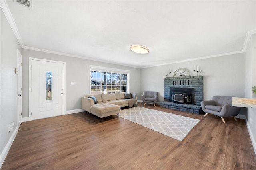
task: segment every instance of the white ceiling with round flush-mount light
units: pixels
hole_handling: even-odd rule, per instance
[[[246,33],[256,30],[256,0],[6,3],[23,48],[136,68],[240,53]],[[150,52],[134,53],[132,44]]]

